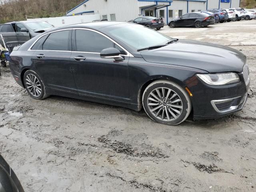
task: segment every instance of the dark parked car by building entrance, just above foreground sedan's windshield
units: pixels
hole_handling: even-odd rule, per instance
[[[134,20],[130,20],[130,22],[134,22],[136,24],[140,24],[148,28],[157,30],[164,27],[164,22],[162,19],[151,16],[138,17]]]

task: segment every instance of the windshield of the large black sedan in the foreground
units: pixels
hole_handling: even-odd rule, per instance
[[[167,44],[171,40],[176,40],[156,30],[137,24],[119,24],[105,27],[104,30],[136,50]]]

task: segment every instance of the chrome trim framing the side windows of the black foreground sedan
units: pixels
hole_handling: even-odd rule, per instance
[[[65,30],[88,30],[88,31],[93,31],[93,32],[96,32],[98,34],[101,34],[102,36],[108,38],[110,41],[112,41],[114,44],[116,44],[117,46],[119,46],[121,49],[123,49],[127,54],[126,55],[121,55],[121,56],[128,56],[128,57],[134,57],[130,52],[128,52],[125,48],[123,48],[120,44],[118,44],[116,41],[112,40],[110,37],[106,36],[105,34],[103,34],[102,32],[99,32],[97,30],[94,30],[94,29],[88,29],[88,28],[68,28],[68,29],[60,29],[60,30],[56,30],[56,31],[52,31],[52,32],[48,32],[42,36],[40,36],[29,48],[28,48],[28,51],[60,51],[60,52],[79,52],[79,53],[92,53],[92,54],[100,54],[100,53],[97,53],[97,52],[81,52],[81,51],[61,51],[61,50],[31,50],[31,48],[34,46],[34,44],[36,44],[36,42],[38,42],[38,40],[40,38],[42,38],[43,36],[45,35],[48,35],[48,34],[51,34],[51,33],[54,33],[54,32],[59,32],[59,31],[65,31]]]

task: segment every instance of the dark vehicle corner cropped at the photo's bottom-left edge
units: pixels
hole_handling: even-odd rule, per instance
[[[0,192],[24,192],[16,174],[0,155]]]

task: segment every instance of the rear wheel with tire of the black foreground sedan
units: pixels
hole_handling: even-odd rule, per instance
[[[23,82],[28,94],[32,98],[40,100],[48,97],[44,83],[36,72],[27,70],[24,74]]]

